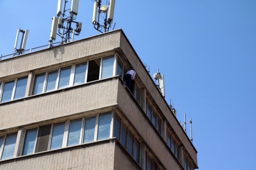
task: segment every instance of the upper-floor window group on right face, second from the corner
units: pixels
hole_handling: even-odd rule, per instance
[[[153,123],[154,127],[157,129],[157,131],[162,134],[162,120],[158,116],[158,114],[155,112],[155,110],[152,108],[152,105],[147,100],[146,102],[146,108],[147,108],[147,116],[150,119],[150,121]]]

